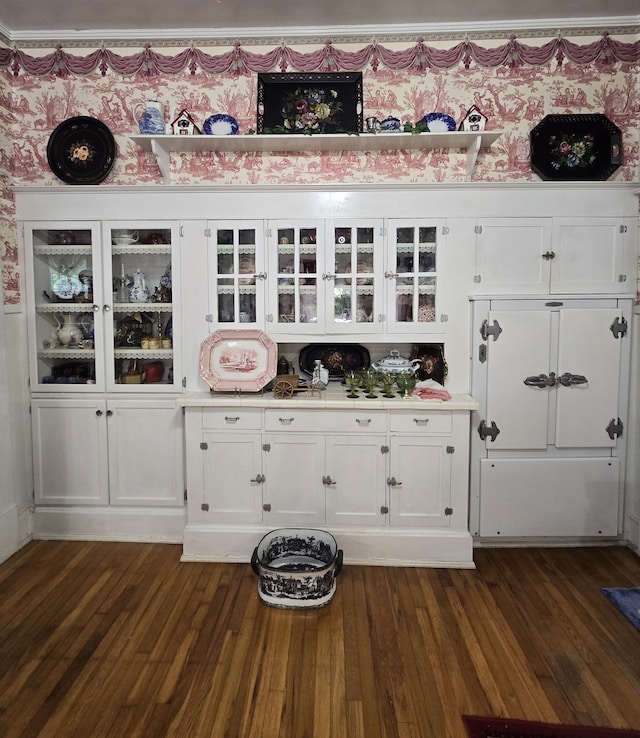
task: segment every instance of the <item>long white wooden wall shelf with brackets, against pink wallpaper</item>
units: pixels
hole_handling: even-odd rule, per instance
[[[131,136],[145,151],[153,152],[165,184],[171,184],[171,152],[300,152],[300,151],[403,151],[410,149],[464,149],[467,181],[471,180],[478,152],[488,148],[502,131],[450,131],[447,133],[336,133],[332,135],[251,136]]]

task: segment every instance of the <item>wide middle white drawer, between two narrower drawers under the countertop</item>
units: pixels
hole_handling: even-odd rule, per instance
[[[371,410],[267,410],[265,428],[268,431],[309,431],[330,433],[363,433],[386,431],[384,411]]]

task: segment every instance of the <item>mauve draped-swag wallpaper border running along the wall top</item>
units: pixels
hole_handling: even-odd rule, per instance
[[[0,69],[10,69],[14,75],[21,72],[37,77],[69,74],[87,75],[99,70],[106,75],[109,70],[118,74],[174,75],[185,69],[192,74],[201,69],[209,73],[244,74],[268,72],[275,69],[300,72],[357,71],[370,65],[374,70],[381,65],[387,69],[450,69],[458,64],[469,68],[472,63],[482,67],[519,67],[524,64],[544,65],[554,60],[560,65],[565,60],[577,64],[612,64],[614,62],[637,63],[640,60],[640,40],[633,42],[611,38],[608,32],[597,41],[577,44],[558,36],[540,46],[522,43],[511,36],[496,47],[483,47],[465,39],[449,49],[439,49],[425,44],[419,38],[414,46],[392,50],[373,41],[355,51],[334,46],[331,40],[311,52],[296,51],[284,43],[266,53],[249,51],[236,42],[230,51],[220,54],[206,53],[191,46],[171,56],[153,51],[146,44],[142,51],[122,55],[104,46],[85,55],[70,54],[58,45],[55,51],[44,56],[32,56],[17,48],[0,48]]]

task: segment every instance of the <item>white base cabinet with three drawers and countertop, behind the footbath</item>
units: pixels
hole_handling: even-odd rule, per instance
[[[185,558],[246,560],[274,527],[322,527],[352,560],[469,565],[468,396],[369,409],[187,393]],[[335,400],[327,399],[335,397]],[[453,404],[453,403],[452,403]],[[438,550],[444,542],[444,547]]]

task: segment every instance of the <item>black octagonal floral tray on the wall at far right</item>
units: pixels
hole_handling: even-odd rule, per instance
[[[605,180],[622,164],[622,132],[606,115],[547,115],[531,131],[531,168],[542,179]]]

